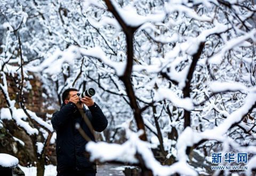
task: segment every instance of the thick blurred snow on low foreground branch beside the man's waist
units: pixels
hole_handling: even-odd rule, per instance
[[[161,165],[151,152],[149,143],[140,140],[139,136],[143,131],[140,130],[135,133],[129,129],[129,125],[126,125],[125,129],[128,140],[122,145],[107,144],[104,142],[94,143],[90,141],[86,145],[86,150],[91,154],[90,160],[98,160],[100,162],[119,161],[137,164],[138,159],[136,155],[140,155],[143,162],[145,162],[145,166],[154,175],[167,176],[174,173],[197,175],[186,162],[174,163],[171,166]]]

